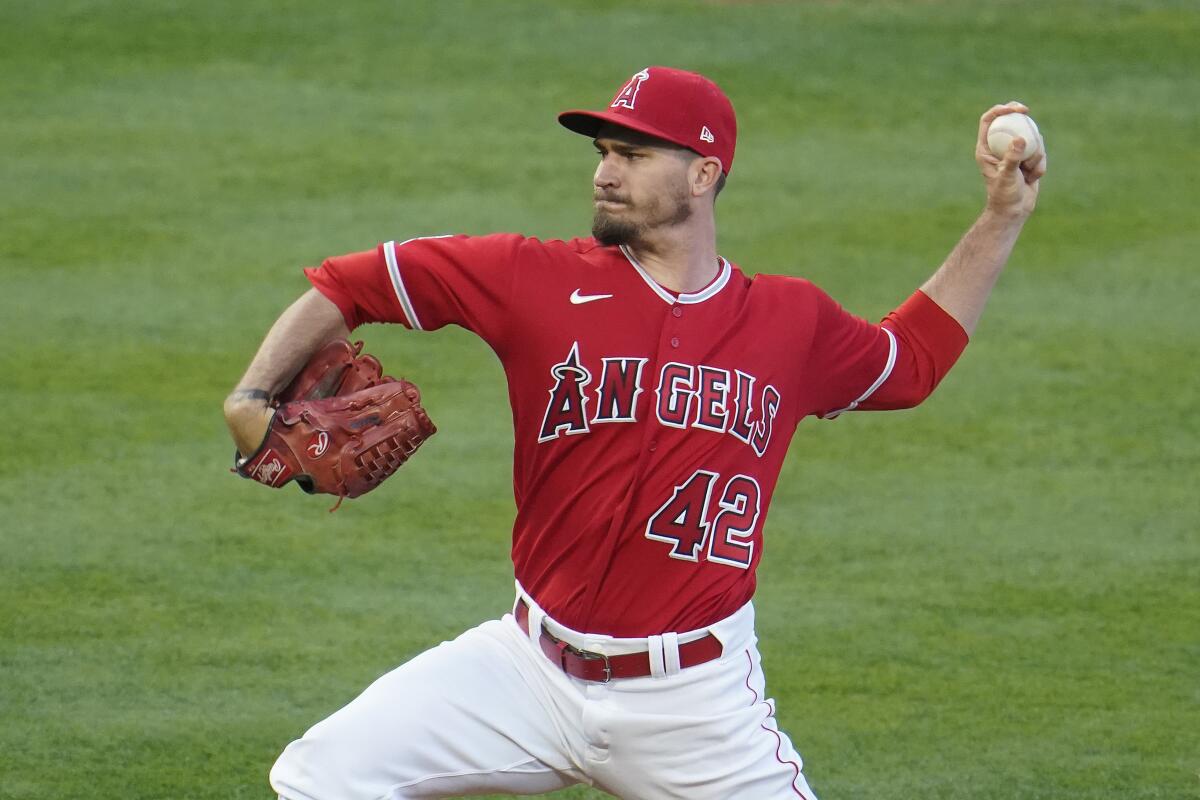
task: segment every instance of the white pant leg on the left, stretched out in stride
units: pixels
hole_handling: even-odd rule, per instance
[[[379,678],[271,769],[284,800],[539,794],[584,780],[536,676],[493,620]]]

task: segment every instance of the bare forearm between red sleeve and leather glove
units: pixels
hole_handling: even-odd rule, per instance
[[[316,289],[284,311],[250,362],[246,374],[226,398],[224,416],[238,451],[253,453],[266,435],[275,392],[288,385],[323,344],[349,336],[342,312]]]

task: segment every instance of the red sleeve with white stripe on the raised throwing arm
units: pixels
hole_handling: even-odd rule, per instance
[[[806,373],[817,383],[815,413],[829,420],[856,409],[917,405],[966,344],[962,326],[920,291],[877,325],[820,293]]]

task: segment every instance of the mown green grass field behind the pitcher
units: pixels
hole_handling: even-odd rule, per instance
[[[738,108],[722,253],[872,318],[978,212],[989,104],[1051,155],[940,391],[797,433],[757,606],[814,789],[1200,798],[1198,41],[1182,0],[0,1],[0,798],[270,796],[292,738],[504,609],[482,343],[361,332],[442,433],[336,515],[229,475],[221,401],[301,265],[584,233],[554,114],[647,64]]]

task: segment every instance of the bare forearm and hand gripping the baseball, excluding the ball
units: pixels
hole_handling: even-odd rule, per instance
[[[988,187],[988,205],[942,266],[920,288],[929,297],[974,332],[996,279],[1008,261],[1021,227],[1038,200],[1038,181],[1046,172],[1045,143],[1039,154],[1021,163],[1025,140],[1013,139],[1003,158],[988,148],[988,126],[1002,114],[1027,113],[1016,102],[994,106],[979,118],[976,162]]]

